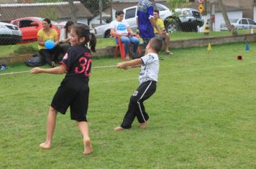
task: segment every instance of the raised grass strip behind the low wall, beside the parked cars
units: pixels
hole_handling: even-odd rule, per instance
[[[239,34],[246,34],[247,30],[239,30]],[[211,32],[209,36],[205,36],[204,33],[197,32],[173,32],[170,34],[170,40],[180,39],[196,39],[201,37],[221,37],[231,35],[232,32]],[[142,42],[142,40],[141,40]],[[114,39],[97,39],[97,49],[103,49],[106,47],[114,47],[116,45]],[[15,54],[32,54],[38,51],[37,42],[29,44],[15,44],[15,45],[0,45],[0,57],[8,57]]]

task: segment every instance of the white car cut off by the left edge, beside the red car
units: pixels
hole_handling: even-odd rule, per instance
[[[17,44],[21,40],[22,32],[17,26],[0,22],[0,44]]]

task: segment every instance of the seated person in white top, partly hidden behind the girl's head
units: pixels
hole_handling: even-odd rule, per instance
[[[64,26],[64,29],[61,29],[60,31],[59,44],[60,44],[60,49],[61,49],[61,52],[63,53],[63,56],[65,55],[65,53],[68,52],[68,49],[71,47],[69,39],[70,39],[70,31],[73,24],[74,24],[73,21],[67,21],[67,23]]]

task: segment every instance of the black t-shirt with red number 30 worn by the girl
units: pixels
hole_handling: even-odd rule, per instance
[[[88,79],[91,74],[91,62],[91,50],[81,44],[70,47],[60,64],[64,64],[67,69],[65,78]]]

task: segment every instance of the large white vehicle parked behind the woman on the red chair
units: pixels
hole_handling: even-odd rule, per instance
[[[204,20],[201,18],[201,14],[196,9],[177,9],[178,15],[174,15],[168,7],[163,4],[155,3],[157,10],[159,11],[160,18],[164,21],[165,29],[168,32],[175,31],[195,31],[197,32],[198,26],[204,25]],[[137,6],[132,6],[124,11],[124,19],[128,22],[133,32],[137,29]],[[94,27],[97,38],[110,37],[110,24],[104,24]]]

